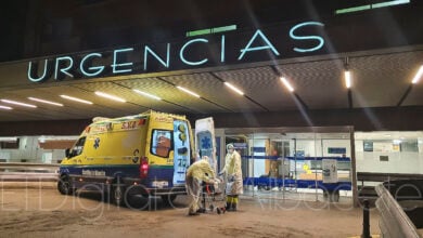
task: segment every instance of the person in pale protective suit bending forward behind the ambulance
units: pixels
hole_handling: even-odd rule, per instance
[[[202,182],[208,184],[217,183],[215,178],[215,171],[208,163],[208,157],[204,156],[203,159],[194,162],[187,170],[185,187],[187,193],[191,197],[190,208],[188,210],[189,215],[198,215],[198,202],[202,191]]]

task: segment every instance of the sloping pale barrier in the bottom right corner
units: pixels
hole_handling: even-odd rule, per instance
[[[376,208],[381,213],[380,228],[383,237],[419,238],[420,235],[402,208],[383,184],[376,186]]]

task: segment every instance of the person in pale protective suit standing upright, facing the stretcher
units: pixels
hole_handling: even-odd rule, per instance
[[[236,211],[239,195],[243,194],[241,156],[232,144],[227,145],[228,154],[225,158],[225,167],[219,175],[227,174],[227,211]]]

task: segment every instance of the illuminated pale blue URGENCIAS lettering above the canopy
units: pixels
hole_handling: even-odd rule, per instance
[[[28,80],[43,82],[271,61],[322,51],[324,24],[256,29],[107,52],[61,55],[28,63]]]

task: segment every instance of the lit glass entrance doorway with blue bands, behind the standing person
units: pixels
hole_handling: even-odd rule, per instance
[[[241,154],[244,196],[357,199],[351,127],[226,129],[225,138]]]

